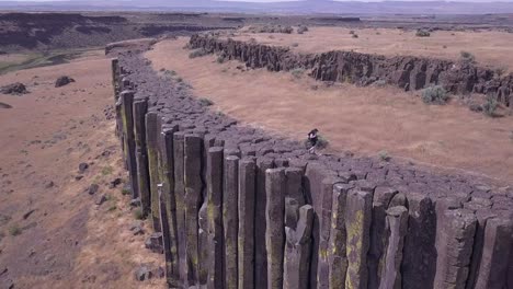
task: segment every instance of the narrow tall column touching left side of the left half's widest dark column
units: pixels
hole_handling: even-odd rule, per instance
[[[185,186],[184,186],[184,132],[176,131],[173,135],[174,157],[174,199],[176,203],[176,236],[179,273],[182,285],[186,285],[186,234],[185,234]]]

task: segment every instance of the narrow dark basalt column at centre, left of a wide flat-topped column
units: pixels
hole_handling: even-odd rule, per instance
[[[256,194],[254,204],[254,287],[267,288],[267,250],[265,247],[265,171],[274,166],[269,158],[256,159]]]

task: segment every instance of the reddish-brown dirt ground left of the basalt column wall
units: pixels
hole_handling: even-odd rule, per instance
[[[138,265],[162,266],[163,257],[144,247],[149,224],[145,235],[129,231],[135,219],[124,184],[109,187],[127,176],[113,134],[110,60],[101,53],[0,77],[0,85],[20,81],[31,91],[0,94],[12,106],[0,107],[2,286],[164,288],[163,279],[134,279]],[[61,74],[77,82],[54,88]],[[89,169],[81,174],[82,162]],[[91,184],[99,185],[93,195],[86,192]]]

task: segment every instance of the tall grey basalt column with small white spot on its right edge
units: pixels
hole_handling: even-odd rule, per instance
[[[157,192],[157,185],[159,182],[159,137],[160,129],[158,128],[158,115],[156,112],[149,112],[146,114],[146,147],[148,149],[148,171],[150,180],[150,209],[151,209],[151,221],[153,230],[160,232],[160,218],[159,218],[159,197]]]

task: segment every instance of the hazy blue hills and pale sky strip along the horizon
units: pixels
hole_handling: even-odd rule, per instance
[[[214,0],[134,0],[134,1],[1,1],[0,10],[16,11],[192,11],[283,14],[503,14],[513,13],[513,2],[383,1],[358,2],[306,0],[252,3]]]

